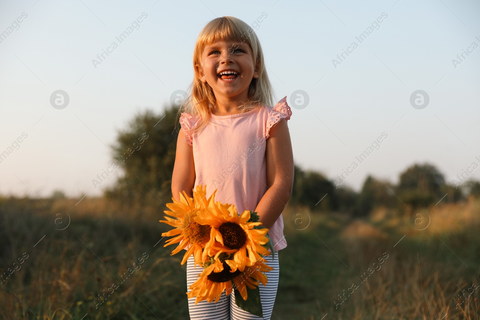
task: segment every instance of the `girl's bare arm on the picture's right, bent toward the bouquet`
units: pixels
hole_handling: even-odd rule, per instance
[[[260,216],[259,221],[266,228],[271,228],[292,194],[293,152],[287,120],[281,119],[270,129],[270,137],[266,143],[268,190],[255,211]]]

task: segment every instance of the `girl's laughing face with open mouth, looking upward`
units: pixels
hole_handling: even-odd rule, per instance
[[[249,44],[218,41],[204,48],[201,60],[198,71],[217,101],[222,97],[239,101],[248,98],[250,83],[258,78],[258,65]]]

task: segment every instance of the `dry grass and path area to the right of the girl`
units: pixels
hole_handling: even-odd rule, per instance
[[[480,284],[479,200],[432,206],[427,209],[432,221],[424,230],[418,229],[426,224],[415,224],[398,211],[377,209],[369,219],[353,221],[335,213],[310,213],[310,226],[300,231],[294,218],[302,211],[284,213],[289,247],[281,258],[297,272],[288,272],[281,285],[302,295],[288,295],[295,304],[276,305],[277,314],[293,308],[301,315],[285,319],[322,319],[325,314],[337,320],[480,319],[480,289],[470,289],[467,298],[458,296]],[[388,259],[373,271],[383,253]],[[368,277],[359,279],[364,273]],[[358,288],[349,295],[353,283]]]

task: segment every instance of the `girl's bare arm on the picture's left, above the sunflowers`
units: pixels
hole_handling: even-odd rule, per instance
[[[273,128],[272,128],[273,129]],[[193,147],[185,142],[183,128],[179,131],[177,151],[172,175],[173,199],[180,201],[180,192],[185,190],[189,197],[193,196],[195,184],[195,163],[193,162]]]

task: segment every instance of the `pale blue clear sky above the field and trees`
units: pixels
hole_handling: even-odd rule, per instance
[[[252,26],[288,97],[295,164],[333,179],[356,162],[355,190],[425,162],[452,182],[480,165],[479,13],[474,0],[0,0],[0,193],[101,195],[121,175],[92,183],[118,131],[187,89],[196,37],[226,15]]]

